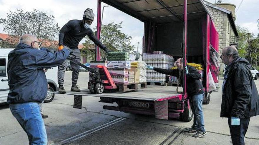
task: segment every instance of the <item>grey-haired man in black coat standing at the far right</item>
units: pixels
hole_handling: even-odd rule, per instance
[[[238,57],[234,46],[225,47],[220,58],[227,65],[220,117],[228,118],[233,145],[244,145],[250,117],[259,115],[259,96],[250,71],[252,66]]]

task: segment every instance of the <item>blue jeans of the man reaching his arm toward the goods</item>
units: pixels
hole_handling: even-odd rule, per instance
[[[204,94],[190,96],[190,105],[194,116],[192,128],[201,132],[205,132],[204,117],[202,112],[203,98]]]

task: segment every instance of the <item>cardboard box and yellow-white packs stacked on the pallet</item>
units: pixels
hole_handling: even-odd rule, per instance
[[[134,83],[147,82],[146,69],[147,69],[147,64],[144,61],[131,62],[131,69],[129,70],[129,74],[132,75],[130,76],[132,78],[134,75]],[[130,81],[133,81],[132,78],[130,78]]]

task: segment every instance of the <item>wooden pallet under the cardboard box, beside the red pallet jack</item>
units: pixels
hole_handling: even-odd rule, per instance
[[[116,84],[116,86],[119,88],[119,92],[122,93],[147,88],[147,83]]]

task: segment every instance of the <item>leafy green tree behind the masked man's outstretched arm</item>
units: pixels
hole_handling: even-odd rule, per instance
[[[121,25],[122,22],[118,24],[112,22],[107,25],[102,25],[100,41],[109,50],[131,52],[135,48],[130,42],[132,37],[121,32]],[[97,28],[94,28],[94,30],[97,30]],[[86,41],[83,45],[90,46],[94,45],[94,43],[86,37]],[[84,47],[83,49],[85,50],[87,47]],[[105,60],[106,58],[107,54],[101,50],[101,59]]]

